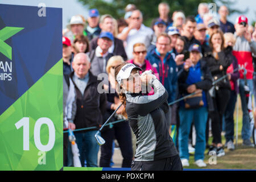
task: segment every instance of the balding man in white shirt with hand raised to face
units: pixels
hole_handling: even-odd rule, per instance
[[[125,51],[128,59],[133,59],[133,45],[135,43],[144,43],[146,48],[150,46],[154,31],[144,26],[141,11],[134,10],[130,17],[129,26],[124,28],[118,36],[119,39],[126,42]]]

